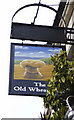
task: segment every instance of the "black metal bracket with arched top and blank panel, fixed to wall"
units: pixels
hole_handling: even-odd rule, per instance
[[[34,24],[23,24],[23,23],[15,23],[13,22],[13,18],[15,15],[22,9],[31,7],[31,6],[41,6],[48,9],[53,10],[57,13],[57,10],[54,8],[45,5],[45,4],[28,4],[21,8],[19,8],[12,17],[12,26],[11,26],[11,36],[12,39],[21,39],[21,40],[32,40],[32,41],[43,41],[50,43],[64,43],[64,44],[72,44],[73,39],[68,39],[67,34],[73,34],[73,30],[71,28],[66,28],[66,22],[62,16],[59,17],[63,20],[65,27],[53,27],[53,26],[41,26],[41,25],[34,25]]]

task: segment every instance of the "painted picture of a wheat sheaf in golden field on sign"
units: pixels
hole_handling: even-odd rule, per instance
[[[60,50],[57,47],[15,45],[14,79],[46,81],[51,78],[54,68],[51,56],[58,54]]]

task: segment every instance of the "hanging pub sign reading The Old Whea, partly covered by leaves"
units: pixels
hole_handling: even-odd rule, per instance
[[[11,43],[9,94],[45,96],[54,67],[51,55],[61,49],[64,47]]]

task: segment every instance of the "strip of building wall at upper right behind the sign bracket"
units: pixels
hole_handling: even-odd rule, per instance
[[[57,15],[55,17],[53,26],[64,27],[62,19],[59,19],[59,14],[63,16],[66,28],[74,28],[74,0],[66,0],[60,3]],[[74,30],[67,34],[68,39],[74,40]],[[74,45],[66,45],[68,59],[72,60],[74,54]]]

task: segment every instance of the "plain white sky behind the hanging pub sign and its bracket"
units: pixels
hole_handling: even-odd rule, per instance
[[[20,7],[38,3],[39,0],[1,0],[0,1],[0,119],[1,118],[38,118],[44,112],[43,99],[32,96],[8,95],[10,72],[10,43],[11,19]],[[41,0],[47,5],[58,4],[59,0]],[[58,6],[55,6],[57,9]],[[14,17],[14,22],[31,23],[36,14],[36,8],[27,8]],[[52,25],[55,13],[51,10],[40,8],[35,24]],[[25,41],[27,42],[27,41]],[[32,42],[29,42],[32,44]],[[40,43],[39,43],[40,44]]]

